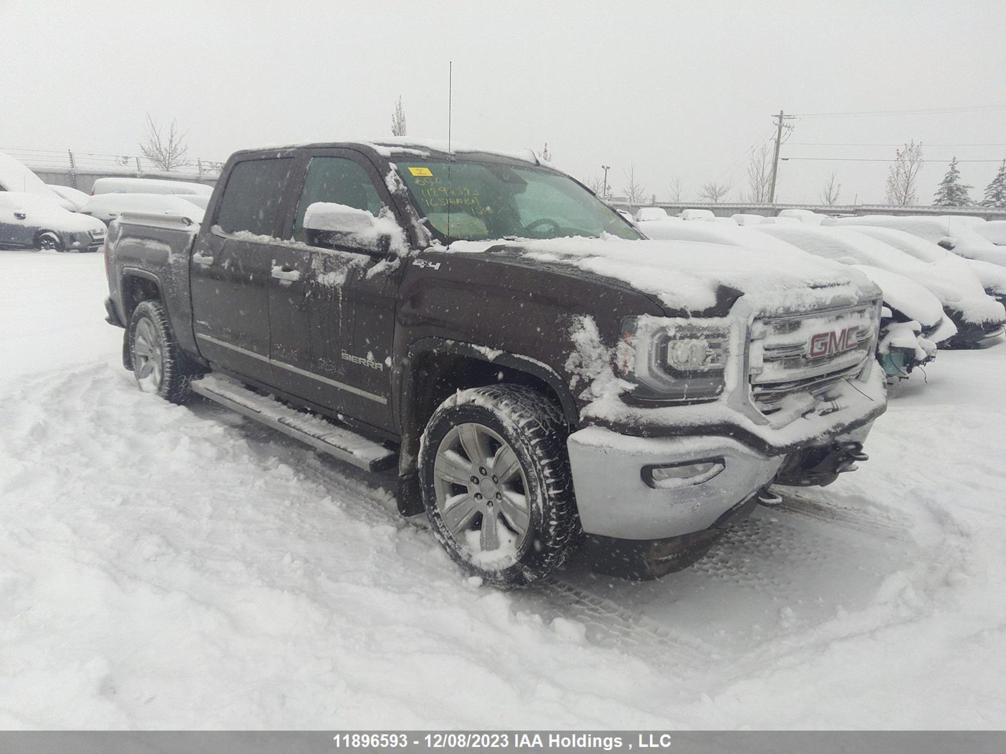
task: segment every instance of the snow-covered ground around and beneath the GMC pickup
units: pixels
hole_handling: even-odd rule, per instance
[[[652,583],[465,579],[382,480],[136,390],[100,254],[0,251],[0,728],[1002,728],[1006,346]]]

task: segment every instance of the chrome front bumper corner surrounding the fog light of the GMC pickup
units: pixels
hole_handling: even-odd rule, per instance
[[[632,437],[602,427],[567,440],[573,491],[586,534],[628,540],[677,537],[708,529],[776,476],[784,455],[764,455],[719,436]],[[712,461],[714,476],[697,474],[652,487],[652,466]]]

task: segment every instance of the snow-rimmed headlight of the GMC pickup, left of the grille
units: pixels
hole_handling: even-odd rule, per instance
[[[644,400],[715,400],[726,384],[729,341],[722,320],[629,317],[622,322],[622,376]]]

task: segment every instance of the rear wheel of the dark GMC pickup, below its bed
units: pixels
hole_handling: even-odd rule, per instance
[[[172,403],[185,403],[192,396],[192,377],[161,302],[137,305],[130,319],[129,348],[133,375],[141,390]]]

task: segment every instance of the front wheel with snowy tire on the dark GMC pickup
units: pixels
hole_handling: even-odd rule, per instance
[[[427,425],[420,481],[451,558],[497,586],[552,572],[582,538],[558,406],[520,385],[459,391]]]

